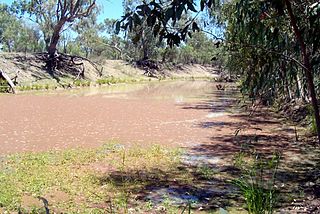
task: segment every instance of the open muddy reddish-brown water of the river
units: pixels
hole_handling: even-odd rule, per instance
[[[2,95],[0,154],[91,148],[110,140],[195,145],[227,122],[230,93],[208,81],[179,81]]]

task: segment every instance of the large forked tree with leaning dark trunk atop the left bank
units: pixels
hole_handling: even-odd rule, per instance
[[[47,66],[53,74],[57,45],[63,30],[86,18],[96,8],[95,0],[17,0],[13,9],[25,12],[39,25],[48,52]]]

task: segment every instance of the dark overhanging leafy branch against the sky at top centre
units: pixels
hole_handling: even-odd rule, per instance
[[[213,1],[205,1],[211,7]],[[205,3],[206,4],[206,3]],[[127,11],[116,23],[116,31],[120,29],[130,31],[136,27],[141,26],[141,20],[146,20],[146,24],[152,29],[154,35],[159,36],[159,40],[166,39],[170,47],[180,45],[187,36],[190,37],[190,31],[197,32],[200,30],[195,19],[190,20],[183,28],[172,30],[177,21],[183,18],[186,9],[197,12],[195,9],[195,2],[189,0],[183,1],[150,1],[141,2],[131,10]]]

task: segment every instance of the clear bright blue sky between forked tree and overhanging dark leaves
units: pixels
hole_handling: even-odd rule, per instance
[[[0,3],[11,4],[14,0],[0,0]],[[105,18],[119,19],[122,16],[121,0],[97,0],[97,4],[102,8],[98,21],[102,22]]]

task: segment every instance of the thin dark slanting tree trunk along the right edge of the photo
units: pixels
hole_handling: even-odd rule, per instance
[[[312,66],[310,64],[310,57],[307,52],[307,47],[306,44],[302,38],[301,31],[298,28],[296,18],[293,14],[292,7],[290,0],[285,0],[288,14],[290,17],[291,25],[294,31],[294,34],[296,35],[297,41],[299,42],[300,48],[301,48],[301,55],[303,59],[303,65],[304,65],[304,71],[305,75],[307,78],[307,83],[308,83],[308,89],[311,97],[311,103],[314,111],[314,117],[316,121],[316,126],[317,126],[317,135],[318,135],[318,141],[320,143],[320,115],[319,115],[319,106],[318,106],[318,100],[317,100],[317,95],[315,92],[315,87],[314,87],[314,82],[313,82],[313,74],[312,74]]]

